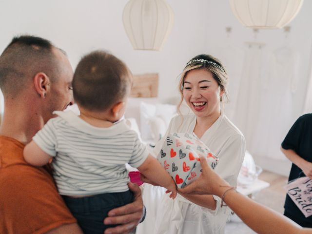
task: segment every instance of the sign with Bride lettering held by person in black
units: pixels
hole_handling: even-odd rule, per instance
[[[284,187],[292,201],[305,217],[312,215],[312,179],[298,178]]]

